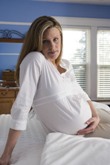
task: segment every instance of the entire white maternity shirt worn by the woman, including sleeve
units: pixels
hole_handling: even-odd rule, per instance
[[[39,52],[29,53],[20,66],[20,91],[11,110],[11,128],[25,130],[28,113],[33,107],[49,131],[75,134],[91,118],[90,100],[75,79],[72,66],[60,74]]]

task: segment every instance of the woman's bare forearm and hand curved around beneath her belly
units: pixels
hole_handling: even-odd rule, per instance
[[[94,132],[96,127],[98,126],[99,124],[99,121],[100,121],[100,118],[97,114],[97,111],[92,103],[91,100],[87,101],[89,106],[90,106],[90,109],[91,109],[91,112],[92,112],[92,118],[90,118],[86,124],[88,125],[85,129],[82,129],[82,130],[79,130],[77,132],[78,135],[84,135],[84,134],[88,134],[88,133],[91,133],[91,132]]]

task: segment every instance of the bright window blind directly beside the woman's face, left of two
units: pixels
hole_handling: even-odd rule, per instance
[[[77,81],[86,91],[88,29],[63,28],[63,58],[73,65]]]

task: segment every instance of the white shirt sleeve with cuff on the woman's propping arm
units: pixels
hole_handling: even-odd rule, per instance
[[[20,90],[11,109],[11,128],[25,130],[42,68],[40,53],[30,53],[20,65]]]

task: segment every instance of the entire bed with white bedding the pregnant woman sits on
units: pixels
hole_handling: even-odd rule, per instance
[[[97,109],[110,108],[94,102]],[[11,116],[0,115],[0,155],[3,152]],[[110,140],[84,138],[60,132],[47,134],[37,116],[29,114],[27,130],[23,131],[12,154],[10,165],[110,165]]]

